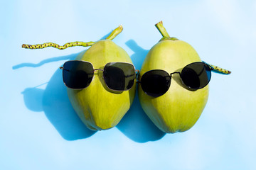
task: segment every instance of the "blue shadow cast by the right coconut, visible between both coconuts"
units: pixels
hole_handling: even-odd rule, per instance
[[[125,44],[134,52],[131,56],[132,62],[136,69],[140,69],[149,50],[139,47],[134,40],[129,40]],[[135,142],[156,141],[166,135],[144,113],[142,106],[140,106],[138,95],[135,96],[132,107],[124,115],[117,128]]]

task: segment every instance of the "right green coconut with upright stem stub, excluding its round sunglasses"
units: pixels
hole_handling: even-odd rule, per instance
[[[164,34],[164,38],[149,50],[139,73],[141,76],[152,69],[163,69],[168,73],[181,72],[187,64],[201,62],[191,45],[177,38],[170,38],[161,22],[156,27]],[[163,132],[174,133],[193,127],[206,106],[209,88],[206,86],[191,91],[182,84],[181,77],[174,74],[171,86],[163,96],[149,96],[140,85],[138,92],[142,108],[152,122]]]

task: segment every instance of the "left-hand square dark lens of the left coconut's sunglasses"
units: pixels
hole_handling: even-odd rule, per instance
[[[89,86],[93,77],[90,62],[68,61],[63,65],[63,81],[71,89],[84,89]]]

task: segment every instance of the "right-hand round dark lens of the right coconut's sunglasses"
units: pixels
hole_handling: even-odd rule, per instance
[[[203,62],[193,62],[182,69],[181,79],[191,89],[202,89],[210,81],[210,68]]]

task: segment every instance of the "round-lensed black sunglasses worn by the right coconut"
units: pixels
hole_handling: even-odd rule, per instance
[[[209,83],[211,70],[213,70],[213,67],[205,62],[193,62],[186,65],[181,72],[173,72],[171,74],[161,69],[153,69],[144,73],[139,83],[145,94],[159,97],[168,91],[171,85],[171,76],[177,73],[188,89],[198,90]]]

